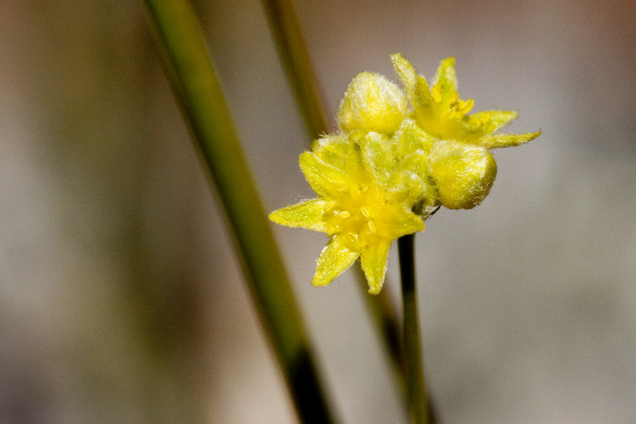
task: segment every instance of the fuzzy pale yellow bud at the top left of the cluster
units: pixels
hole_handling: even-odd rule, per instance
[[[396,131],[406,116],[406,95],[379,73],[363,72],[353,78],[338,107],[343,131]]]

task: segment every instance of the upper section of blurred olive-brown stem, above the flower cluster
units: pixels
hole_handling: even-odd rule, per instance
[[[324,101],[302,36],[293,0],[263,0],[278,53],[300,106],[310,139],[329,132]]]

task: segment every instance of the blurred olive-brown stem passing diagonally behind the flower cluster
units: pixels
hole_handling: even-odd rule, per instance
[[[305,126],[310,140],[317,139],[329,132],[326,122],[324,101],[318,80],[314,73],[310,54],[307,51],[305,37],[293,0],[263,0],[264,8],[269,16],[270,26],[276,46],[285,65],[285,71],[293,86],[296,101],[305,118]],[[404,379],[404,355],[399,341],[400,326],[395,304],[389,290],[382,290],[375,296],[367,293],[367,281],[358,269],[356,278],[377,331],[384,340],[387,353],[393,364],[396,379],[402,389],[406,387]]]

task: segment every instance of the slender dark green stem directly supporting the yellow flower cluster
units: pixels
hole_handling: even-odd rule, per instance
[[[424,384],[422,342],[418,321],[418,296],[415,276],[415,235],[398,239],[402,300],[404,302],[404,353],[406,354],[406,385],[411,416],[416,424],[429,424],[428,398]]]

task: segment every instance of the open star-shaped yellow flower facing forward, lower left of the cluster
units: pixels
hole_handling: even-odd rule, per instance
[[[391,243],[424,229],[422,218],[411,211],[411,199],[374,172],[374,160],[365,151],[378,137],[378,133],[354,131],[315,142],[312,152],[300,155],[300,167],[319,199],[278,209],[269,216],[276,223],[331,237],[317,261],[314,285],[331,283],[360,257],[369,292],[379,293]]]

